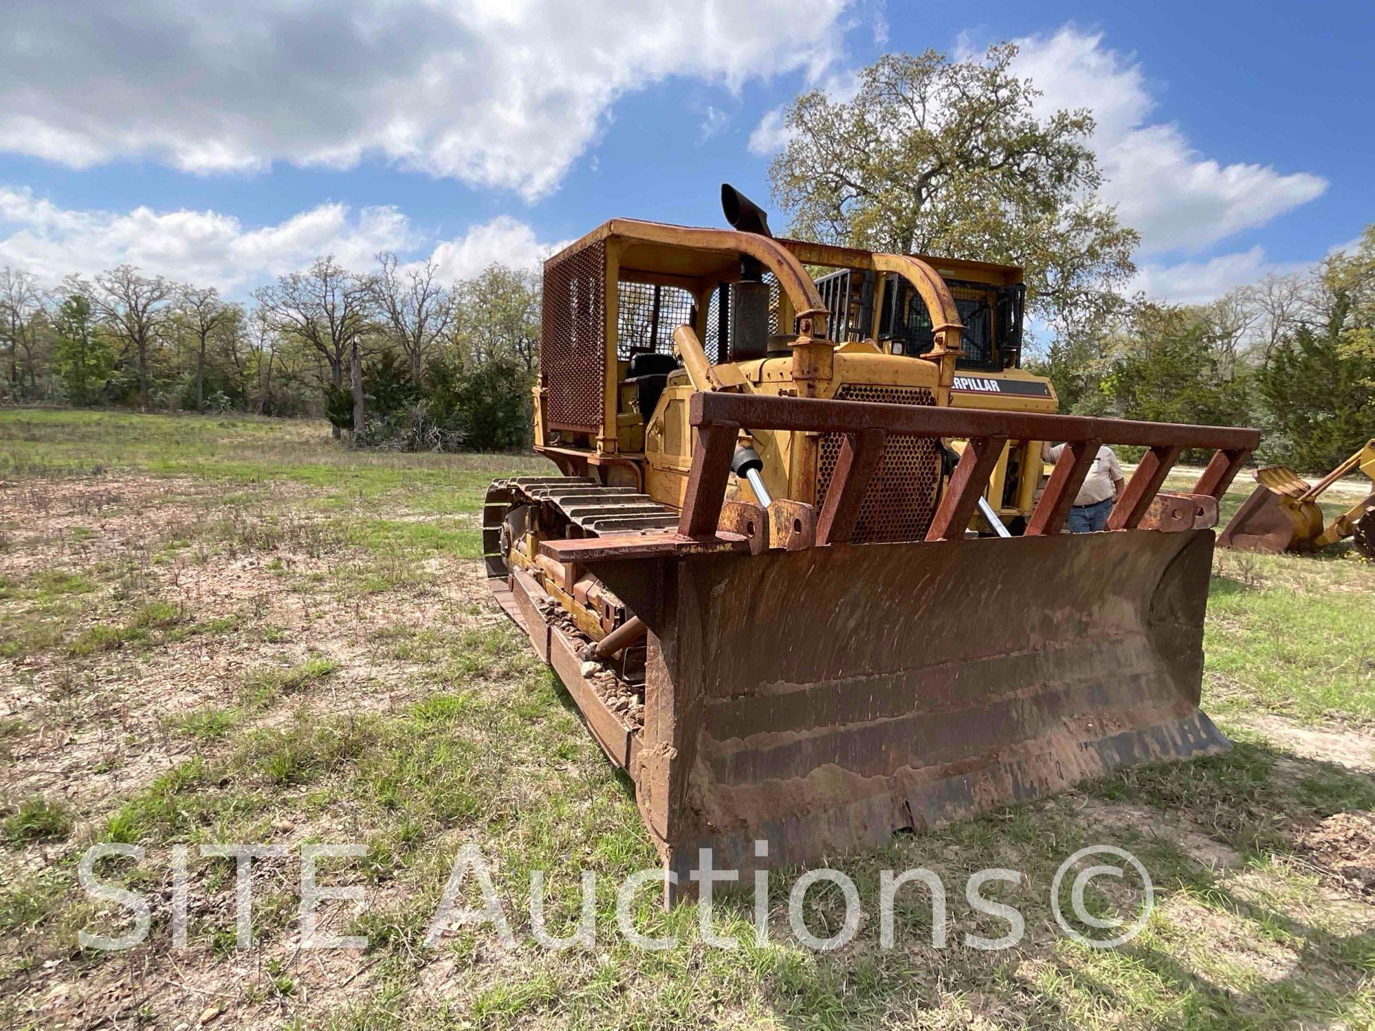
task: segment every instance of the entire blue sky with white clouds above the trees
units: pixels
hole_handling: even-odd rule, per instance
[[[11,0],[0,264],[243,296],[331,250],[535,263],[612,216],[767,199],[776,113],[887,49],[1018,38],[1089,106],[1136,286],[1198,301],[1372,220],[1375,5]],[[781,221],[781,220],[777,220]]]

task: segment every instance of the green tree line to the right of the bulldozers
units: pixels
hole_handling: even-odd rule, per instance
[[[1031,367],[1060,410],[1260,426],[1260,458],[1326,472],[1375,437],[1375,225],[1302,272],[1216,301],[1123,300]]]

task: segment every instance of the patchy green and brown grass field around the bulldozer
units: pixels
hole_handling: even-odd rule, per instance
[[[748,896],[714,913],[637,896],[645,951],[616,931],[615,884],[654,865],[630,782],[487,597],[477,513],[520,456],[355,454],[323,423],[0,412],[0,1026],[12,1027],[1371,1027],[1375,1026],[1375,568],[1350,548],[1217,558],[1204,708],[1236,746],[1134,770],[835,862],[865,900],[829,953],[789,932],[786,887],[759,944]],[[1247,491],[1238,484],[1228,510]],[[96,841],[139,845],[103,880],[151,899],[126,951],[78,947],[132,921],[77,887]],[[366,902],[322,903],[362,950],[301,947],[300,854]],[[235,947],[235,865],[209,843],[264,843],[253,947]],[[1062,933],[1049,884],[1085,844],[1130,850],[1156,887],[1115,950]],[[172,850],[190,845],[173,947]],[[465,845],[490,863],[516,936],[424,939]],[[947,947],[903,895],[895,947],[879,872],[949,885]],[[1016,947],[965,932],[968,873],[1026,922]],[[550,933],[597,873],[595,947],[531,936],[529,872]],[[795,874],[796,872],[792,872]],[[1089,892],[1133,916],[1134,895]],[[466,905],[476,895],[465,894]],[[808,896],[833,933],[839,892]]]

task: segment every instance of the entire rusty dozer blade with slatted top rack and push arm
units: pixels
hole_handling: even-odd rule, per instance
[[[737,870],[808,863],[1228,746],[1199,709],[1203,617],[1217,499],[1255,430],[705,392],[690,421],[676,532],[539,544],[644,623],[642,720],[583,678],[535,579],[494,581],[632,778],[668,899],[692,891],[701,848]],[[806,542],[723,520],[741,428],[846,434]],[[852,543],[887,433],[968,447],[924,540]],[[1023,536],[968,539],[1006,440],[1066,448]],[[1145,452],[1110,532],[1062,535],[1104,441]],[[1216,448],[1192,492],[1160,495],[1192,447]]]

